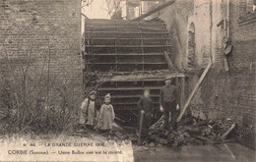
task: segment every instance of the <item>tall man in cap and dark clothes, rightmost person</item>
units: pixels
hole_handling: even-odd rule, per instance
[[[176,128],[178,115],[178,89],[171,84],[171,78],[165,78],[165,85],[160,88],[160,112],[163,112],[164,129],[169,129],[169,113],[171,113],[170,127]]]

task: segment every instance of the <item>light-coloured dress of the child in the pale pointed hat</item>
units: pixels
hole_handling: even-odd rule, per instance
[[[103,104],[99,110],[96,128],[100,130],[112,130],[112,123],[115,118],[114,109],[111,104]]]

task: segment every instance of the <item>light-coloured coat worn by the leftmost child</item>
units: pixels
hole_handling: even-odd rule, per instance
[[[89,103],[89,106],[88,106],[88,103]],[[89,102],[89,98],[86,98],[81,105],[81,114],[80,114],[79,123],[85,124],[86,120],[88,120],[87,125],[95,125],[95,117],[96,117],[95,109],[96,109],[96,102],[92,100],[90,100]],[[87,116],[87,111],[88,111],[88,116]]]

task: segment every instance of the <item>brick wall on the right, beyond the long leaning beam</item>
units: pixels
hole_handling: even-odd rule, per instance
[[[226,1],[221,6],[222,11],[217,12],[223,13],[224,18]],[[231,1],[230,38],[233,52],[228,58],[229,72],[224,72],[223,44],[220,39],[216,40],[213,45],[217,59],[202,85],[204,92],[201,96],[207,112],[215,112],[220,118],[233,119],[238,126],[238,141],[255,148],[256,15],[248,15],[251,19],[246,21],[241,15],[243,7],[238,0]]]

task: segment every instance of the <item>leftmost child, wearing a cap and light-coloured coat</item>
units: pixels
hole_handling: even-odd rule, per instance
[[[81,105],[81,113],[79,124],[86,125],[89,129],[93,129],[96,125],[96,118],[100,105],[96,102],[96,91],[91,91]]]

